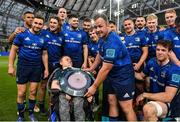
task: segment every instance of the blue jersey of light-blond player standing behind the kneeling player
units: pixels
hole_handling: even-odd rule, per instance
[[[156,44],[159,40],[163,39],[163,32],[157,30],[156,32],[147,32],[146,34],[148,41],[148,59],[156,57]]]

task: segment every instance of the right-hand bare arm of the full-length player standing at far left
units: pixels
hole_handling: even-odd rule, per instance
[[[48,70],[48,52],[47,50],[43,50],[43,54],[42,54],[42,60],[43,60],[43,64],[44,64],[44,78],[47,78],[49,75],[49,70]]]

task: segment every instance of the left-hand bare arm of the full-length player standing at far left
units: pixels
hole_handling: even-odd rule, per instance
[[[9,54],[9,63],[8,63],[8,74],[11,76],[15,76],[15,68],[14,68],[14,61],[16,58],[18,47],[16,45],[12,45],[11,51]]]

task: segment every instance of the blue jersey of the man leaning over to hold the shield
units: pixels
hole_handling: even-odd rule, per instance
[[[131,59],[125,45],[115,32],[110,32],[100,45],[99,53],[103,62],[112,63],[113,67],[131,64]]]

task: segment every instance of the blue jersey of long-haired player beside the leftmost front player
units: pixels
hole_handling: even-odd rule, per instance
[[[53,33],[49,30],[42,30],[42,34],[47,40],[49,63],[59,63],[62,56],[63,33]]]

